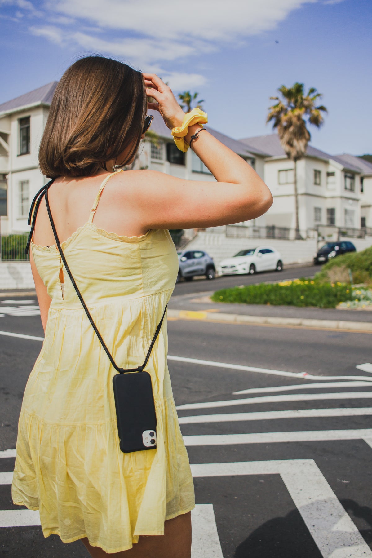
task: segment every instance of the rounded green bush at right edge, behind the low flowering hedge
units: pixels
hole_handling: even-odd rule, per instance
[[[346,279],[347,270],[351,270],[352,282],[370,283],[372,281],[372,246],[363,252],[342,254],[327,262],[322,270],[316,274],[317,281],[349,281]]]

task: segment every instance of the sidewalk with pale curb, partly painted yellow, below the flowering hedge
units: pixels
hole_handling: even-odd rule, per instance
[[[213,291],[178,295],[168,304],[168,318],[206,320],[236,324],[284,325],[372,333],[372,312],[260,304],[212,302]]]

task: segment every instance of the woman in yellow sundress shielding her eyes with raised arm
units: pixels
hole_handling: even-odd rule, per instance
[[[189,118],[156,75],[99,56],[81,59],[56,88],[39,156],[43,174],[55,179],[48,199],[65,261],[124,368],[143,362],[175,285],[178,258],[167,229],[254,219],[272,204],[252,167],[200,123],[177,145],[191,143],[217,182],[113,172],[133,161],[148,108],[169,128]],[[23,398],[13,501],[40,511],[45,536],[81,539],[93,557],[190,558],[194,490],[167,369],[166,325],[146,366],[156,449],[122,453],[116,371],[66,273],[44,198],[35,219],[31,266],[45,341]]]

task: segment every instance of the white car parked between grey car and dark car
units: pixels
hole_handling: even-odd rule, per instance
[[[270,246],[240,250],[232,258],[223,259],[218,266],[219,275],[243,275],[257,271],[282,271],[280,252]]]

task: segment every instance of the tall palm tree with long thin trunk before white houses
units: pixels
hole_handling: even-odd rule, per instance
[[[298,193],[297,193],[297,161],[306,154],[310,141],[310,132],[306,124],[313,124],[320,128],[324,122],[321,112],[327,112],[323,105],[315,106],[317,99],[322,97],[315,87],[311,87],[307,95],[304,94],[303,83],[294,83],[292,87],[285,85],[278,91],[283,99],[270,97],[277,104],[269,107],[266,123],[273,122],[273,128],[278,129],[279,140],[287,157],[294,162],[294,198],[296,200],[296,238],[302,238],[299,233],[298,222]],[[307,122],[305,118],[308,117]]]

